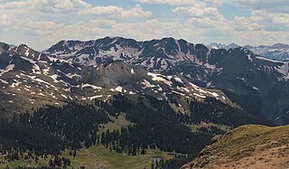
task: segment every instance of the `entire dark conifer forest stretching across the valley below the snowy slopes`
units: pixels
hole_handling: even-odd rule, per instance
[[[198,155],[210,144],[212,136],[225,132],[218,127],[192,131],[193,125],[201,122],[228,127],[247,122],[266,124],[215,99],[203,102],[188,99],[187,104],[191,113],[182,114],[167,101],[116,95],[107,101],[70,102],[62,107],[46,106],[32,113],[15,114],[10,121],[0,124],[0,165],[14,166],[11,164],[18,161],[20,166],[65,167],[71,165],[71,159],[80,157],[81,149],[99,145],[110,152],[132,156],[146,155],[151,149],[171,152],[173,158],[152,166],[177,167]],[[122,115],[128,126],[103,128]]]

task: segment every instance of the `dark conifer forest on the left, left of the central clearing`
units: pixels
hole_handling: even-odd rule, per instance
[[[68,149],[75,156],[77,149],[95,145],[99,125],[108,120],[105,111],[77,103],[14,115],[10,122],[0,123],[0,154],[8,162],[25,159],[37,164],[43,158],[52,167],[67,166],[70,160],[58,155]],[[50,160],[48,155],[52,155]]]

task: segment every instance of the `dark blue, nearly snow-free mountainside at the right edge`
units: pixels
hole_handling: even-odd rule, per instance
[[[219,55],[212,52],[211,57]],[[266,60],[242,48],[229,50],[224,58],[216,64],[219,71],[213,73],[211,86],[222,89],[256,116],[274,119],[284,115],[288,109],[284,104],[288,101],[288,62]]]

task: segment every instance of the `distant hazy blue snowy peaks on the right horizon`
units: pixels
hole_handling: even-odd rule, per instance
[[[231,48],[238,48],[240,47],[236,43],[231,44],[221,44],[217,42],[212,42],[207,45],[209,48],[213,49],[231,49]],[[278,61],[288,61],[289,60],[289,45],[284,43],[275,43],[273,45],[259,45],[259,46],[251,46],[251,45],[245,45],[242,46],[244,48],[247,48],[251,52],[256,53],[257,55],[278,60]]]

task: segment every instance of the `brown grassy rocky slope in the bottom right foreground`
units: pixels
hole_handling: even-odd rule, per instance
[[[248,125],[214,137],[189,168],[288,168],[289,127]]]

